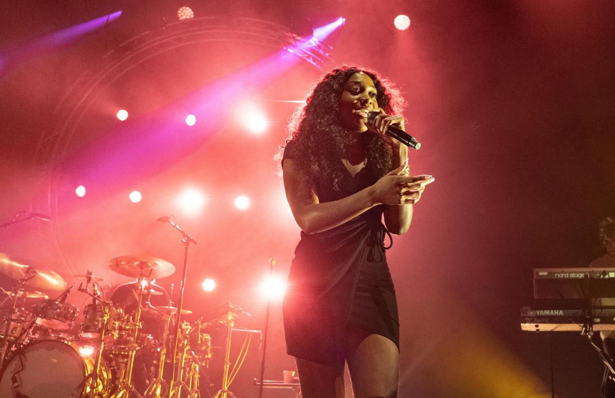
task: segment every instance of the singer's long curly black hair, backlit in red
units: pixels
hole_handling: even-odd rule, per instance
[[[289,124],[293,141],[291,157],[311,184],[325,179],[332,181],[333,188],[339,191],[339,181],[344,175],[339,159],[343,157],[344,148],[354,144],[356,139],[341,124],[339,102],[346,82],[357,72],[370,76],[377,90],[378,106],[385,113],[399,115],[403,111],[405,100],[399,90],[375,71],[340,66],[325,74],[314,86],[305,105],[295,111]],[[380,178],[391,171],[392,148],[381,134],[367,131],[360,137],[360,144],[366,149],[366,172],[373,178]]]

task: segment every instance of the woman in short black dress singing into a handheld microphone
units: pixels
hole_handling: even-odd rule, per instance
[[[282,170],[301,241],[283,310],[303,398],[343,398],[344,362],[355,397],[397,397],[399,318],[385,250],[434,181],[411,177],[408,147],[386,135],[403,129],[403,105],[386,79],[343,66],[291,124]]]

